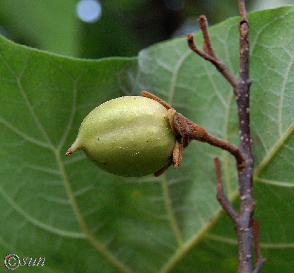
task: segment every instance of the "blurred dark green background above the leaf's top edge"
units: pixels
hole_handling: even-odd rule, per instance
[[[246,6],[251,11],[293,3],[247,0]],[[239,14],[237,0],[0,0],[0,7],[1,35],[34,48],[95,59],[136,56],[156,42],[194,32],[201,14],[211,25]]]

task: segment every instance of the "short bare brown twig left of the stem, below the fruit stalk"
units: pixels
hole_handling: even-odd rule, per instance
[[[237,222],[237,219],[239,217],[238,212],[233,207],[232,203],[229,201],[228,197],[223,191],[223,184],[221,182],[221,172],[220,172],[220,160],[218,157],[214,159],[214,168],[216,170],[216,197],[220,203],[220,205],[223,207],[225,212],[230,216],[232,221],[234,223]]]

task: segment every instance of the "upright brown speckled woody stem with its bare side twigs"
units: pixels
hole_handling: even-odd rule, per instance
[[[220,174],[220,162],[215,159],[217,177],[217,198],[226,213],[235,223],[238,236],[238,273],[258,273],[265,259],[262,258],[259,246],[259,225],[253,221],[255,202],[253,199],[253,152],[250,136],[249,94],[251,80],[249,78],[249,22],[246,16],[244,0],[239,0],[241,20],[239,22],[239,77],[230,72],[225,63],[219,59],[211,43],[208,24],[204,15],[198,21],[203,33],[203,50],[193,40],[193,34],[187,35],[188,45],[202,58],[210,61],[216,69],[232,85],[238,107],[239,120],[239,152],[243,161],[237,162],[238,183],[240,191],[240,211],[237,212],[223,191]],[[256,264],[253,267],[253,240],[255,242]]]

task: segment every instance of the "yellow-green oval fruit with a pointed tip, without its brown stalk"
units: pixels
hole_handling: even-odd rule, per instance
[[[152,174],[168,164],[175,146],[167,114],[163,105],[146,97],[106,101],[86,116],[70,149],[82,149],[111,174]]]

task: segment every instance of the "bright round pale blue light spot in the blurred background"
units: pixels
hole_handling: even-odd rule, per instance
[[[76,5],[78,18],[87,23],[94,23],[101,17],[101,4],[97,0],[80,0]]]

